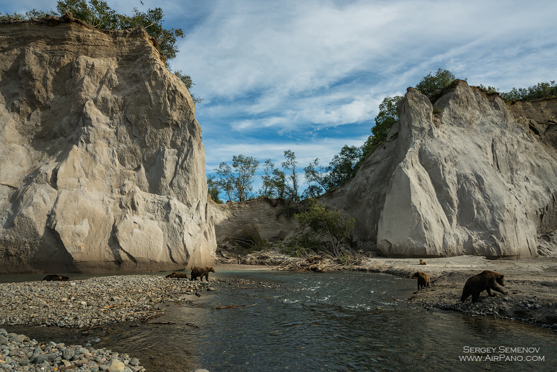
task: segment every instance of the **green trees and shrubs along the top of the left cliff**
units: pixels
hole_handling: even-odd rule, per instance
[[[140,3],[143,5],[141,1]],[[110,8],[107,1],[104,0],[89,0],[88,2],[86,0],[58,0],[56,10],[44,12],[33,9],[25,14],[14,13],[13,15],[0,13],[0,20],[8,18],[29,20],[31,18],[45,17],[46,15],[60,17],[65,13],[72,13],[74,18],[91,24],[96,29],[123,30],[143,27],[150,36],[159,42],[159,52],[166,59],[167,68],[168,60],[175,58],[176,54],[180,52],[178,47],[176,47],[176,42],[178,38],[184,37],[184,32],[182,29],[165,29],[162,26],[162,22],[164,22],[162,19],[164,17],[162,8],[148,9],[146,12],[140,12],[139,9],[134,8],[133,15],[129,16],[116,13],[116,10]],[[191,77],[182,74],[182,71],[178,70],[174,74],[184,82],[188,90],[194,85],[191,82]],[[193,94],[191,99],[196,103],[203,100],[195,97]]]

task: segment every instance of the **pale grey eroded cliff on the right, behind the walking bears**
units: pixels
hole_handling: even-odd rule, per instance
[[[320,201],[385,256],[537,256],[557,228],[557,100],[454,85],[434,104],[409,88],[389,139]]]

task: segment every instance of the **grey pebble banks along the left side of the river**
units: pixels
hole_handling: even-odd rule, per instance
[[[120,275],[75,281],[0,284],[0,327],[39,325],[92,328],[161,313],[162,302],[185,304],[213,290],[211,282]],[[0,328],[0,371],[142,372],[139,359],[107,349],[64,343],[38,343]]]

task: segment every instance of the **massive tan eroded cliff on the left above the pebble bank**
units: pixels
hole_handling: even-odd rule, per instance
[[[143,29],[0,24],[0,272],[208,265],[205,149]]]

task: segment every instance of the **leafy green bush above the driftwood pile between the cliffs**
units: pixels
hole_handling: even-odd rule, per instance
[[[294,218],[308,235],[328,240],[329,253],[335,257],[343,255],[340,253],[340,245],[348,244],[352,239],[355,219],[347,218],[338,210],[329,210],[315,199],[309,199],[308,209],[295,214]]]

